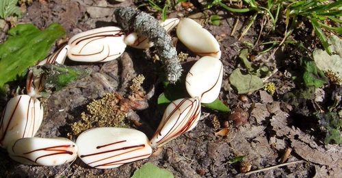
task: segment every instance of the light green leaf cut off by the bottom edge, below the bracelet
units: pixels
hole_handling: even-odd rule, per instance
[[[152,163],[148,162],[140,169],[134,171],[134,174],[131,178],[171,178],[174,175],[165,168],[159,168],[158,166],[153,165]]]

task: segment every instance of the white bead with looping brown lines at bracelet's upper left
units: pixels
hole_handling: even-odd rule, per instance
[[[79,62],[107,62],[120,57],[126,48],[119,27],[101,27],[70,38],[68,58]]]

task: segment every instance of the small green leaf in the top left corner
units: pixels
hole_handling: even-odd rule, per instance
[[[18,6],[16,6],[18,0],[2,0],[0,1],[0,17],[5,18],[10,15],[16,14],[21,17],[21,11]]]

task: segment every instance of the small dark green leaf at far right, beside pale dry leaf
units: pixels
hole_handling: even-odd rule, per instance
[[[313,60],[310,58],[303,58],[302,62],[302,66],[304,67],[303,81],[305,86],[315,86],[315,88],[319,88],[327,83],[328,78],[326,78],[323,71],[317,68]]]

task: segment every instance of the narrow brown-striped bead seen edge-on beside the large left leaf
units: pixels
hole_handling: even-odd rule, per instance
[[[49,57],[45,58],[44,60],[40,61],[36,66],[42,66],[44,64],[53,64],[57,62],[58,64],[64,64],[66,59],[66,53],[68,52],[69,45],[64,45],[64,47],[60,48],[58,51],[49,55]],[[26,92],[29,96],[34,98],[39,98],[40,91],[44,88],[44,81],[46,76],[44,74],[34,77],[33,71],[30,70],[27,74],[26,79]]]

